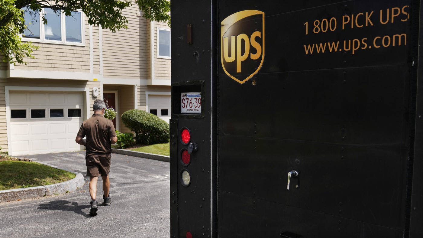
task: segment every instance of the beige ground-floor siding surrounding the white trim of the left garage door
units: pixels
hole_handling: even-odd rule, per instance
[[[89,87],[90,116],[93,114],[93,103],[96,98],[92,97],[93,87],[100,89],[99,81],[75,81],[75,80],[44,80],[44,79],[5,79],[0,78],[0,146],[2,151],[7,151],[7,128],[6,128],[6,101],[5,86],[27,86],[27,87]],[[82,94],[82,92],[81,92]]]

